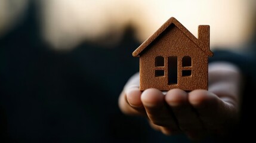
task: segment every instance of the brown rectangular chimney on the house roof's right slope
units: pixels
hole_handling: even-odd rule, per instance
[[[203,51],[208,51],[210,48],[210,26],[199,25],[198,26],[198,39],[203,43]]]

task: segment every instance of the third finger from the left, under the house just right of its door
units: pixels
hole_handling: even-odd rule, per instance
[[[180,129],[190,138],[200,138],[205,129],[192,105],[189,104],[187,97],[187,92],[181,89],[171,89],[167,92],[165,101],[171,107]]]

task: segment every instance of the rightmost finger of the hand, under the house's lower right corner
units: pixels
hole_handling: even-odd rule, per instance
[[[205,128],[224,131],[236,115],[235,107],[217,95],[205,90],[189,93],[189,102],[195,108]]]

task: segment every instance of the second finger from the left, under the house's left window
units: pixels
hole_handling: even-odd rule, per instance
[[[178,133],[180,129],[167,107],[164,98],[164,94],[158,89],[146,89],[141,94],[141,101],[151,122],[155,125],[168,128],[170,133]]]

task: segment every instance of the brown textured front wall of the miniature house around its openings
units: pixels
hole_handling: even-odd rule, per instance
[[[164,67],[155,67],[155,57],[164,57]],[[168,57],[178,57],[178,83],[168,85]],[[184,56],[192,58],[192,76],[182,77],[181,60]],[[155,77],[156,69],[163,69],[164,76]],[[140,89],[157,88],[168,91],[180,88],[184,91],[208,89],[208,56],[190,41],[183,32],[172,24],[140,55]]]

